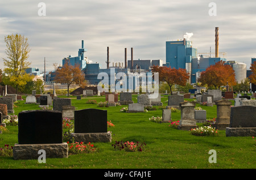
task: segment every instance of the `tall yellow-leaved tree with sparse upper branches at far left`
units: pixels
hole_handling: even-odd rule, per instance
[[[5,36],[5,42],[7,48],[5,51],[7,58],[3,58],[3,65],[6,66],[3,69],[5,84],[16,86],[16,93],[18,93],[18,86],[26,85],[32,79],[32,76],[25,71],[31,65],[27,62],[30,48],[27,38],[18,34]]]

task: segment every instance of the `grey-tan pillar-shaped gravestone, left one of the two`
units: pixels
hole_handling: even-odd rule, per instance
[[[177,127],[179,130],[190,131],[191,128],[196,128],[195,106],[196,102],[185,101],[180,103],[181,119]]]

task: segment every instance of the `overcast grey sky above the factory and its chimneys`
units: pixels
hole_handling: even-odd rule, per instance
[[[46,5],[46,16],[40,2]],[[209,3],[216,4],[210,16]],[[106,68],[107,46],[110,66],[130,59],[163,59],[166,41],[180,40],[186,32],[199,53],[214,52],[215,27],[219,27],[219,52],[228,60],[250,67],[256,57],[256,1],[171,0],[75,0],[0,2],[0,68],[6,57],[4,38],[18,33],[28,38],[31,67],[53,70],[53,63],[77,55],[84,40],[85,57]],[[212,12],[212,11],[211,11]],[[220,54],[221,55],[221,54]]]

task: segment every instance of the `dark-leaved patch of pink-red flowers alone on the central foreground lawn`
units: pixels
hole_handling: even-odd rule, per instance
[[[121,140],[121,142],[115,141],[115,144],[112,144],[115,151],[117,151],[117,150],[121,151],[123,149],[124,151],[128,151],[128,152],[135,152],[135,151],[141,152],[144,150],[145,145],[146,145],[146,143],[129,142],[129,141],[123,142],[122,140]]]

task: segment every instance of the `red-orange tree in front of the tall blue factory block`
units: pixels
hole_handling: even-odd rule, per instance
[[[152,70],[154,72],[158,72],[159,81],[166,82],[171,90],[172,95],[172,85],[186,85],[187,80],[189,79],[189,74],[183,68],[171,68],[167,66],[153,66]]]

